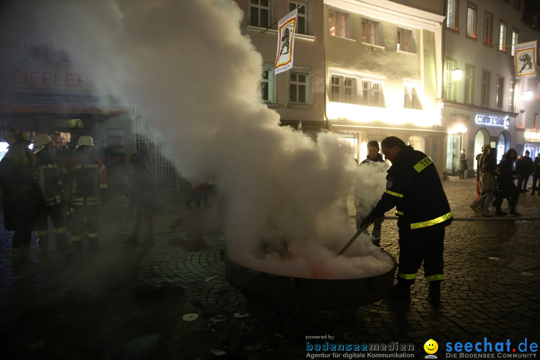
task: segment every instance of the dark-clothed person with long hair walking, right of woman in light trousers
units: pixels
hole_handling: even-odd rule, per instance
[[[519,191],[517,190],[514,182],[517,172],[512,169],[514,161],[516,161],[517,153],[514,149],[510,149],[502,157],[501,162],[497,165],[497,186],[498,191],[495,194],[495,200],[493,205],[495,206],[495,215],[505,216],[507,213],[501,209],[503,199],[508,198],[508,206],[510,207],[510,215],[521,216],[516,211],[517,199],[519,198]]]

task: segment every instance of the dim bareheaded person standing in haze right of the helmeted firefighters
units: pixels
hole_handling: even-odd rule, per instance
[[[158,202],[154,174],[145,163],[143,155],[131,155],[130,162],[134,167],[130,186],[131,206],[133,207],[133,229],[126,243],[130,246],[138,244],[140,225],[144,219],[147,228],[145,245],[151,246],[154,244],[153,214]]]

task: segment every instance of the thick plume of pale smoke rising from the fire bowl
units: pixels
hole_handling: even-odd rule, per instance
[[[226,235],[234,260],[274,273],[278,263],[281,273],[306,277],[361,277],[392,267],[367,236],[348,250],[363,257],[335,256],[354,234],[339,211],[356,171],[352,151],[333,134],[315,143],[278,126],[278,114],[261,103],[262,59],[241,35],[244,14],[236,3],[14,4],[68,50],[100,92],[134,104],[163,133],[184,177],[218,184],[230,200]],[[291,248],[285,258],[277,255],[284,244]],[[351,263],[353,270],[338,274]]]

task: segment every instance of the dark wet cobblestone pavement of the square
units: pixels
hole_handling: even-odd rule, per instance
[[[45,260],[32,243],[31,258],[38,262],[22,279],[12,277],[11,233],[2,230],[0,358],[424,358],[428,339],[438,343],[438,358],[463,355],[446,351],[457,342],[495,347],[507,340],[509,352],[495,357],[536,355],[522,354],[518,344],[540,341],[540,196],[520,196],[521,218],[482,218],[469,208],[474,179],[450,177],[443,185],[456,220],[447,228],[447,280],[438,307],[427,300],[422,270],[410,304],[382,300],[359,308],[302,310],[247,300],[225,277],[215,196],[198,242],[191,220],[176,232],[169,229],[180,215],[191,219],[186,194],[159,193],[156,244],[135,248],[123,244],[131,226],[127,200],[113,197],[102,206],[102,252],[85,252],[65,264],[54,246]],[[395,219],[383,222],[381,244],[397,257]],[[326,351],[325,343],[388,346]],[[396,346],[408,349],[396,352]]]

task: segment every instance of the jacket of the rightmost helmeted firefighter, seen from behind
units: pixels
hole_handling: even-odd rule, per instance
[[[99,189],[107,188],[105,165],[100,158],[79,151],[66,161],[62,173],[69,178],[71,205],[99,205]]]

